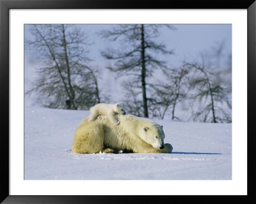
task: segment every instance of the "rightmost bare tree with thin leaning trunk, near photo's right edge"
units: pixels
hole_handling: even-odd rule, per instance
[[[202,56],[202,62],[186,63],[186,66],[194,70],[189,84],[191,98],[195,103],[200,102],[192,115],[193,120],[200,118],[201,122],[231,122],[231,116],[224,108],[231,109],[228,90],[216,81],[215,70],[207,66],[205,56]]]

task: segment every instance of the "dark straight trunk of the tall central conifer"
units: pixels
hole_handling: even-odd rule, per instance
[[[145,65],[144,25],[141,24],[141,86],[142,86],[144,116],[145,118],[148,118],[148,104],[147,104],[145,77],[146,77],[146,65]]]

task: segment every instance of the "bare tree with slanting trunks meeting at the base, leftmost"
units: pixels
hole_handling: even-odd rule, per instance
[[[88,66],[85,47],[90,45],[75,25],[34,24],[33,40],[26,49],[44,60],[37,70],[33,88],[43,106],[67,109],[88,109],[100,102],[97,70]]]

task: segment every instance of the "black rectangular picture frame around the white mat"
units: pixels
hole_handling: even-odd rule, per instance
[[[10,9],[246,9],[248,13],[248,67],[247,67],[247,139],[248,139],[248,195],[247,196],[10,196],[9,194],[9,12]],[[256,2],[255,0],[180,0],[180,1],[118,1],[118,0],[0,0],[0,116],[1,122],[1,197],[3,203],[214,203],[255,202],[255,87],[256,87]],[[241,136],[246,137],[246,136]],[[113,189],[115,191],[115,189]]]

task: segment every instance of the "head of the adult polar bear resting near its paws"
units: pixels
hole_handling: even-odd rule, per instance
[[[158,124],[140,127],[140,137],[148,144],[157,149],[164,148],[164,131],[163,126]]]

